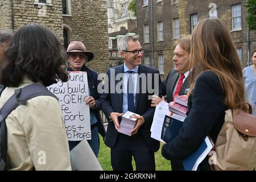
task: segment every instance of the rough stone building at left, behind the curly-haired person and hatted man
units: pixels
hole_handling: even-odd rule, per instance
[[[44,24],[65,48],[72,40],[83,42],[94,52],[88,66],[99,73],[108,69],[106,0],[0,0],[1,29],[16,31],[28,23]]]

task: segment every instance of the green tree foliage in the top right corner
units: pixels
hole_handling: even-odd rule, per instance
[[[247,0],[245,7],[248,13],[246,17],[248,28],[256,31],[256,0]]]

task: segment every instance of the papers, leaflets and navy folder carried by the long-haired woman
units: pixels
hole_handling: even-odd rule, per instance
[[[183,126],[183,121],[187,117],[187,97],[177,96],[174,100],[174,102],[170,102],[169,104],[162,101],[156,106],[150,129],[151,138],[168,143],[179,134]],[[173,112],[171,116],[169,110]],[[197,167],[205,159],[212,147],[212,143],[206,137],[199,148],[182,160],[185,170],[197,170]]]

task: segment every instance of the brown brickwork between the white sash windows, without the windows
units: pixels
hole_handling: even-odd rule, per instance
[[[228,26],[233,41],[238,48],[242,48],[242,64],[247,66],[248,42],[246,28],[246,9],[243,6],[245,0],[163,0],[160,2],[148,1],[148,6],[143,6],[143,1],[137,1],[137,31],[141,36],[141,44],[144,47],[144,55],[151,56],[151,66],[158,68],[158,54],[164,54],[164,74],[166,75],[173,67],[172,52],[176,46],[176,40],[172,35],[172,19],[179,18],[180,38],[191,34],[190,15],[197,13],[198,20],[209,17],[210,3],[216,3],[218,18]],[[242,29],[232,31],[231,6],[241,3],[242,7]],[[152,17],[151,17],[151,14]],[[164,40],[157,42],[157,22],[163,20]],[[150,43],[143,43],[143,26],[149,25]],[[256,48],[255,32],[250,32],[250,50]],[[154,52],[154,53],[153,53]],[[153,61],[154,59],[154,61]],[[161,77],[164,77],[163,75]]]

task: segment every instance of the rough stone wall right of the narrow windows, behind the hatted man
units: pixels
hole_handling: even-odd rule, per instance
[[[106,0],[71,1],[71,11],[71,17],[63,18],[63,23],[71,27],[71,40],[83,42],[94,53],[88,66],[105,73],[110,65]]]

